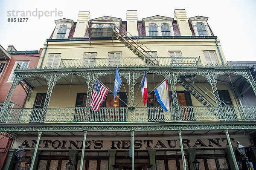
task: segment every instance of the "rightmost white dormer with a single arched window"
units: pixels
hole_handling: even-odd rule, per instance
[[[207,23],[208,17],[196,16],[189,18],[196,36],[211,36],[211,31]]]

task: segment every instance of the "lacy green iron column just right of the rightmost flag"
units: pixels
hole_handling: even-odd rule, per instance
[[[176,91],[176,83],[177,80],[175,78],[174,72],[169,72],[171,90],[172,90],[172,99],[173,99],[173,107],[174,107],[174,121],[180,121],[180,113],[179,113],[179,104],[177,98],[177,91]]]

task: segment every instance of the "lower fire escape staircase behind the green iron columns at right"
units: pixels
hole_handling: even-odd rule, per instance
[[[192,86],[191,84],[189,84],[188,81],[186,81],[186,76],[180,76],[178,78],[178,82],[191,94],[193,95],[201,104],[203,104],[204,106],[206,106],[210,112],[212,112],[212,114],[214,114],[217,118],[219,118],[220,120],[225,120],[225,116],[222,115],[206,97],[205,95],[207,95],[212,101],[214,101],[214,99],[207,94],[207,92],[210,92],[209,90],[207,92],[205,92],[203,89],[201,89],[199,86],[195,85],[198,89],[200,89],[202,92],[204,92],[204,94],[201,94],[197,89],[195,89],[194,86]],[[190,79],[188,79],[190,80]]]

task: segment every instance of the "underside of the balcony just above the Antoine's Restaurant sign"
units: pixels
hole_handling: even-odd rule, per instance
[[[229,134],[249,134],[253,133],[256,130],[229,130]],[[38,132],[9,132],[13,135],[17,136],[37,136]],[[43,136],[48,137],[83,137],[83,132],[72,132],[72,131],[66,131],[66,132],[43,132]],[[135,131],[134,133],[136,136],[177,136],[178,131]],[[225,135],[224,130],[183,130],[182,135]],[[123,132],[108,132],[108,131],[102,131],[102,132],[88,132],[87,137],[130,137],[131,132],[129,131],[123,131]]]

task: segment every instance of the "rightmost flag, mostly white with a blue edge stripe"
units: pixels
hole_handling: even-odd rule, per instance
[[[169,95],[168,95],[168,84],[167,79],[163,81],[162,84],[160,84],[157,89],[154,90],[157,101],[159,104],[163,107],[164,111],[168,111],[169,109]]]

